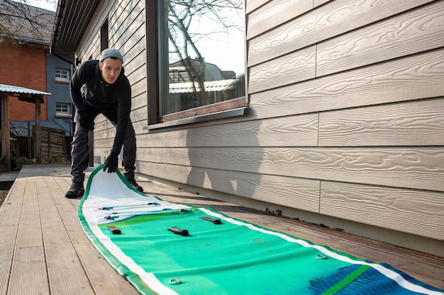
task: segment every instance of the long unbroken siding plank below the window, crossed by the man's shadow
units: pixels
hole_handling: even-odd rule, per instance
[[[444,191],[442,148],[178,148],[162,163]]]

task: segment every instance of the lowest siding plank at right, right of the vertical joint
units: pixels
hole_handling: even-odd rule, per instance
[[[321,182],[321,214],[444,240],[444,193]]]

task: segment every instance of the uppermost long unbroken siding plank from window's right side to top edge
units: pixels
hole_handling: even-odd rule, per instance
[[[431,0],[337,0],[249,40],[248,66],[347,33]]]

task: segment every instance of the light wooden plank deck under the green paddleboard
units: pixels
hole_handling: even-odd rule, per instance
[[[70,184],[67,164],[23,166],[18,173],[0,209],[0,295],[138,294],[84,234],[77,219],[79,199],[65,198]],[[174,187],[144,181],[140,185],[147,195],[213,207],[359,258],[387,262],[411,277],[444,289],[444,258],[245,209]]]

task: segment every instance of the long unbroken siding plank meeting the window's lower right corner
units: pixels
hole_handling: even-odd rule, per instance
[[[252,93],[257,118],[444,96],[444,49]]]

